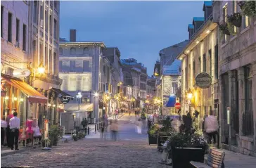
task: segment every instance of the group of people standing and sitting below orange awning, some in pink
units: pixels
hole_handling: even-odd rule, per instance
[[[39,138],[39,141],[41,140],[40,129],[32,117],[27,119],[20,134],[20,119],[17,116],[18,113],[13,110],[11,115],[8,115],[6,119],[1,119],[1,146],[7,145],[11,150],[18,150],[19,139],[23,140],[24,145],[24,140],[27,140],[27,143],[32,142],[33,138]],[[5,143],[5,139],[7,144]]]

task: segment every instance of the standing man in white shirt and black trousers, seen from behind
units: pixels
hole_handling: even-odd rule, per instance
[[[14,112],[13,117],[10,119],[10,129],[11,129],[11,139],[10,145],[11,150],[13,150],[13,143],[15,143],[15,150],[18,149],[18,141],[19,141],[19,129],[20,129],[20,119],[17,117],[18,113]]]

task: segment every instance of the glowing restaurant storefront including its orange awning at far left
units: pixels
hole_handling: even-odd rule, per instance
[[[12,110],[18,112],[20,124],[27,118],[38,119],[37,109],[47,103],[47,98],[23,80],[1,74],[1,118],[6,119]]]

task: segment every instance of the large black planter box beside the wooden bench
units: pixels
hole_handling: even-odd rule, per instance
[[[172,168],[193,168],[191,161],[203,162],[204,148],[172,148]]]

